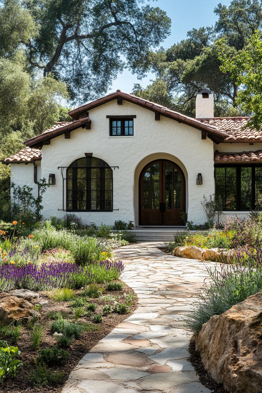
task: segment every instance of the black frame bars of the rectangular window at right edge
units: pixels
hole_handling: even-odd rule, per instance
[[[216,168],[236,168],[236,209],[226,209],[223,211],[251,211],[256,209],[255,204],[255,168],[262,167],[262,163],[246,163],[246,164],[215,164],[214,165],[214,179],[215,179],[215,195],[216,195]],[[241,168],[251,168],[251,209],[241,209]],[[226,190],[226,185],[225,185]],[[226,193],[224,193],[226,195]],[[225,196],[226,200],[226,196]],[[224,205],[225,206],[225,205]],[[226,207],[226,206],[225,206]]]

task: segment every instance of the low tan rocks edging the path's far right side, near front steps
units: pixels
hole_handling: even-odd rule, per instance
[[[180,258],[199,259],[200,261],[230,260],[234,250],[220,250],[219,248],[200,248],[197,246],[180,246],[173,250],[173,255]]]

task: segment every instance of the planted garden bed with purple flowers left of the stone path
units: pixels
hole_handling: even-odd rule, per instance
[[[80,358],[136,308],[113,254],[135,238],[74,215],[0,225],[0,389],[59,392]]]

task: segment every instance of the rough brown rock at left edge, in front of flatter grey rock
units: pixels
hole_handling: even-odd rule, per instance
[[[14,321],[29,322],[39,319],[40,314],[32,303],[15,296],[6,296],[0,300],[0,321],[9,324]]]

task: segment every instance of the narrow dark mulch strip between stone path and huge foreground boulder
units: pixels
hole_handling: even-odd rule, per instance
[[[212,393],[230,393],[225,390],[222,384],[218,384],[205,370],[201,362],[200,353],[196,351],[195,340],[192,338],[189,343],[189,361],[199,375],[200,382],[211,390]]]

